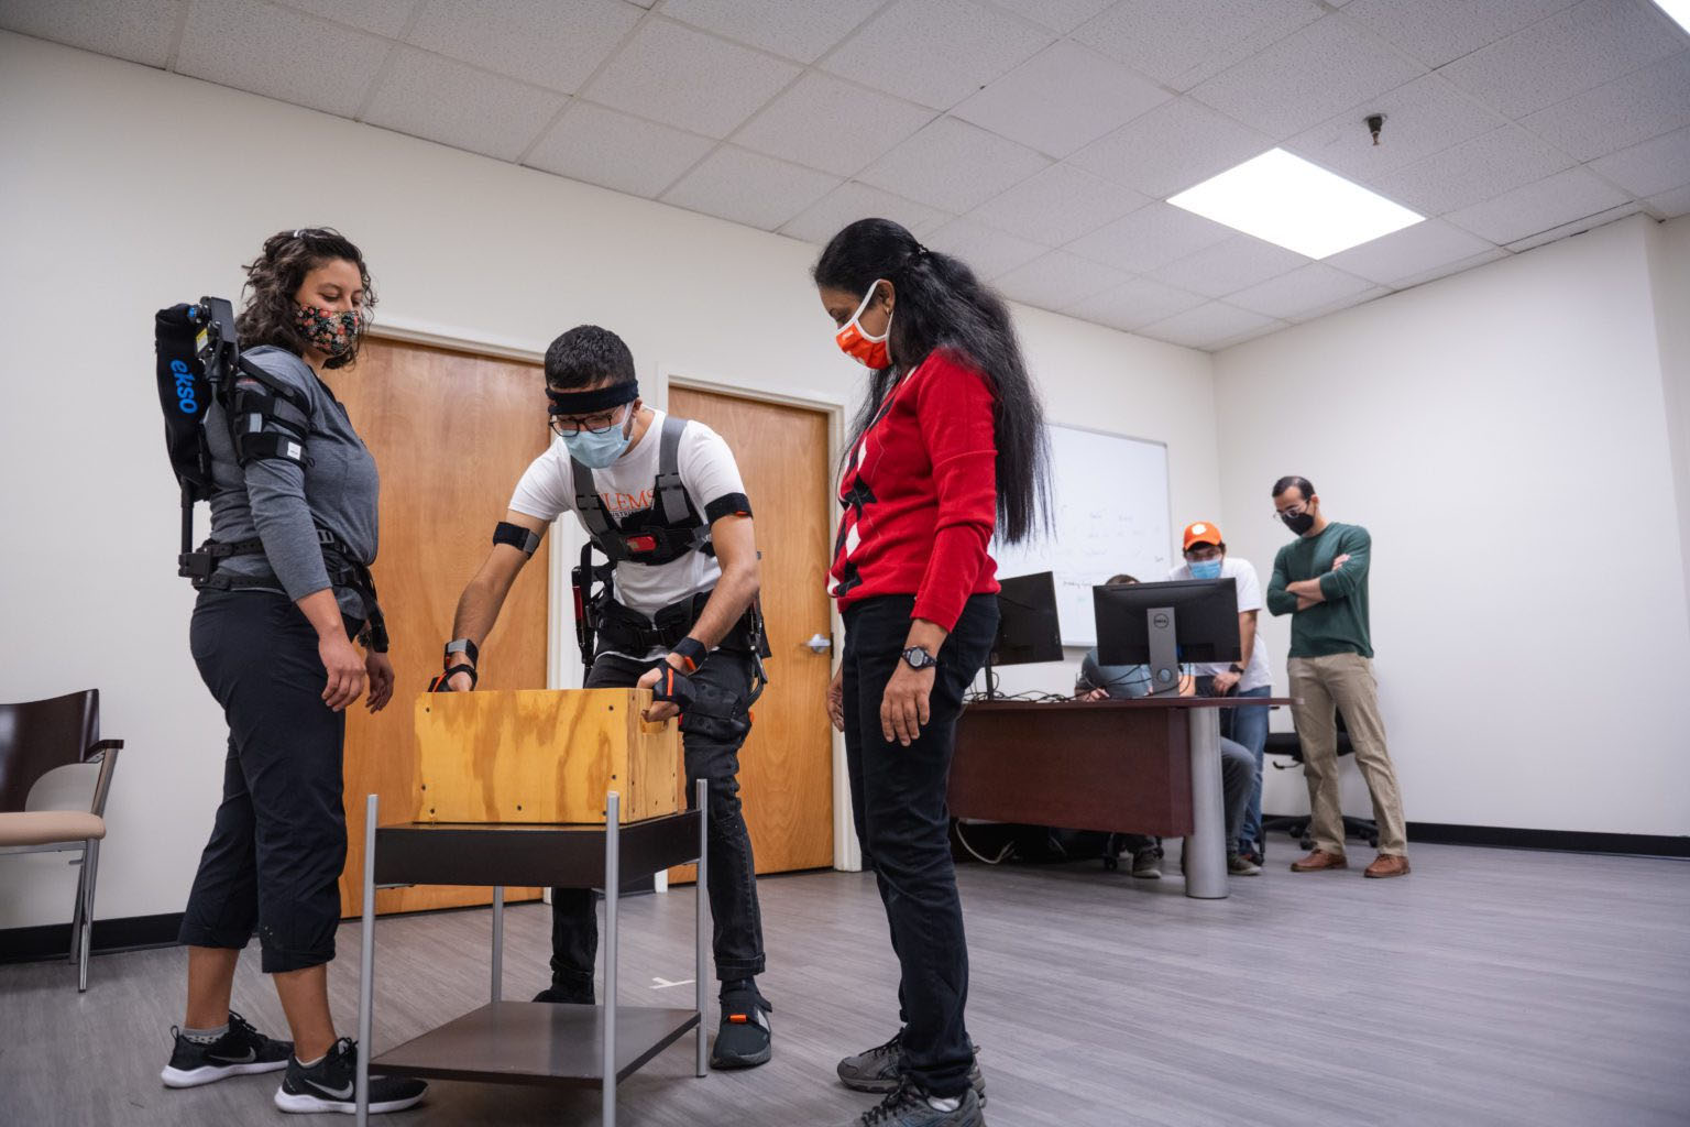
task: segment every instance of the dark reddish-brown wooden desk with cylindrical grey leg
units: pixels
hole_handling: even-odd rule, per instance
[[[1186,896],[1227,896],[1220,708],[1286,698],[977,701],[957,721],[950,813],[1186,838]]]

